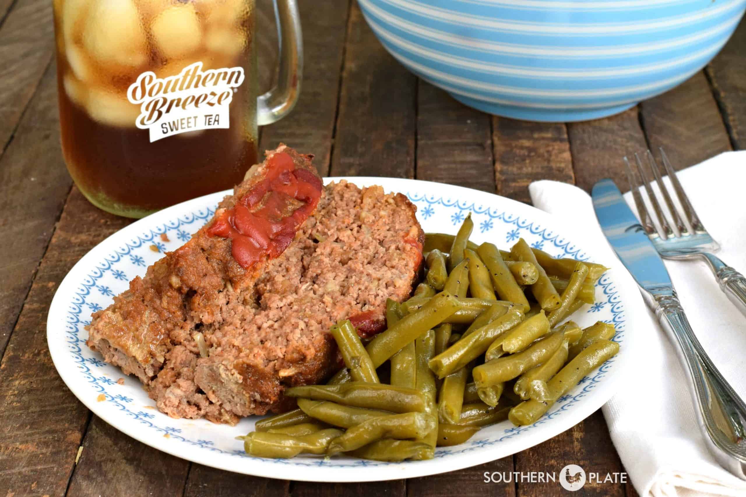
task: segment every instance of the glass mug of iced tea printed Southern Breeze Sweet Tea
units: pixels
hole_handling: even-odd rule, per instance
[[[53,2],[63,156],[105,211],[231,188],[257,162],[257,124],[298,98],[295,0],[275,0],[278,84],[258,98],[254,0]]]

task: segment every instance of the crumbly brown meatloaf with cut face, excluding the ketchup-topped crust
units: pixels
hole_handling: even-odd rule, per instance
[[[211,248],[217,260],[205,257],[201,273],[180,276],[188,290],[169,282],[177,250],[94,314],[88,343],[137,374],[169,416],[236,422],[283,411],[292,405],[286,386],[322,381],[339,367],[327,332],[336,320],[362,316],[365,327],[380,328],[386,298],[410,294],[424,238],[415,212],[402,194],[332,184],[289,247],[251,275],[231,259],[231,241],[201,230],[192,251],[222,249]]]

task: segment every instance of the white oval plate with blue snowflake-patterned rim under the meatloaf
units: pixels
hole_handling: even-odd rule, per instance
[[[329,178],[327,181],[339,178]],[[346,178],[359,186],[380,184],[386,191],[401,191],[418,207],[417,217],[426,232],[455,233],[472,212],[472,240],[492,241],[510,247],[523,237],[552,256],[593,260],[592,246],[574,234],[574,228],[523,203],[504,197],[441,183],[389,178]],[[597,320],[614,323],[614,340],[621,352],[583,379],[533,425],[514,427],[501,422],[479,431],[471,440],[436,450],[433,460],[379,463],[355,458],[298,457],[263,459],[245,455],[236,435],[246,434],[256,418],[236,426],[207,420],[174,420],[154,408],[140,382],[119,368],[104,364],[98,352],[86,344],[84,326],[90,314],[109,306],[112,297],[128,288],[130,279],[144,275],[145,268],[175,250],[189,234],[213,215],[226,192],[195,198],[157,212],[116,232],[98,244],[65,277],[51,303],[47,341],[54,366],[67,386],[91,411],[131,437],[196,463],[228,471],[269,478],[304,481],[376,481],[413,478],[453,471],[503,458],[560,434],[588,417],[615,392],[627,359],[633,353],[633,335],[626,333],[625,308],[639,308],[639,292],[619,262],[610,265],[598,282],[594,306],[584,306],[573,319],[581,326]],[[169,241],[162,241],[166,233]],[[156,251],[157,250],[157,251]]]

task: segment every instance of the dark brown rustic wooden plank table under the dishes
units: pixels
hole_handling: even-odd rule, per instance
[[[671,92],[599,121],[539,124],[458,104],[395,62],[354,1],[301,0],[306,66],[298,106],[265,127],[316,154],[325,175],[416,177],[528,201],[552,179],[627,188],[621,156],[663,146],[678,168],[746,145],[746,25]],[[261,77],[276,35],[260,0]],[[95,209],[60,154],[49,0],[0,0],[0,495],[7,496],[545,496],[557,484],[485,484],[485,471],[622,471],[598,411],[539,446],[470,469],[376,484],[309,484],[235,475],[157,452],[93,416],[57,376],[46,315],[57,285],[99,241],[131,220]],[[78,448],[83,446],[76,462]],[[292,474],[288,474],[292,477]],[[631,484],[583,493],[635,496]]]

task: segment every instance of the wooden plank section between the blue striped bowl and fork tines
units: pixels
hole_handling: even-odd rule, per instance
[[[745,59],[746,60],[746,59]],[[674,168],[698,164],[730,150],[730,139],[703,72],[640,104],[651,151],[662,147]]]

